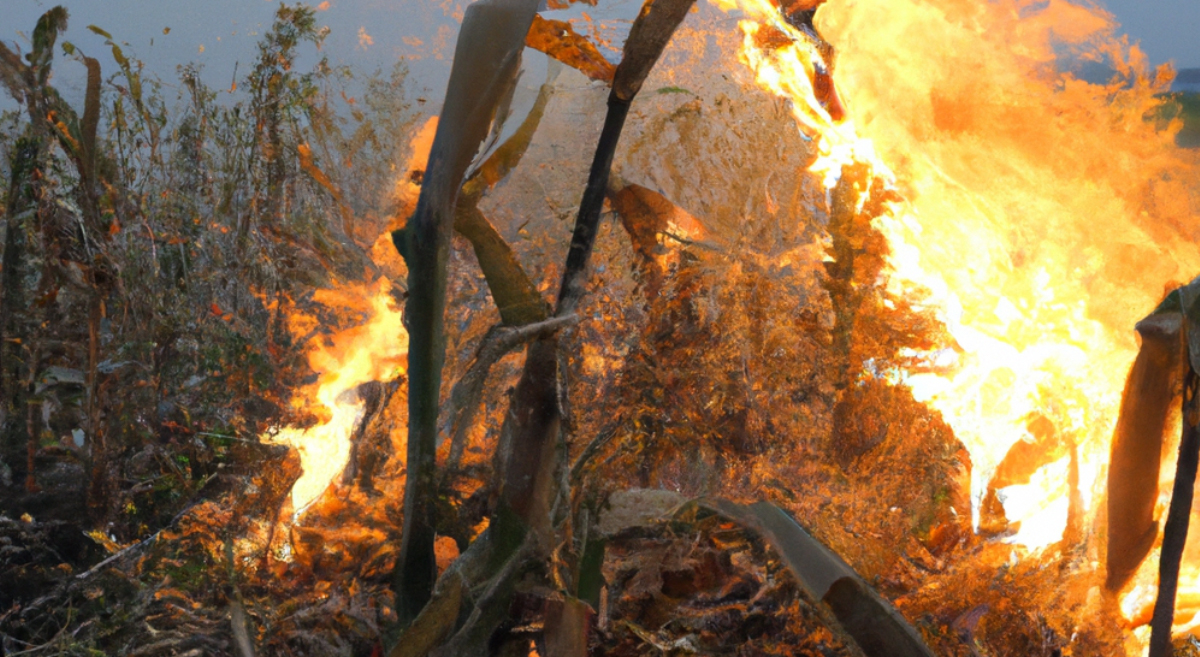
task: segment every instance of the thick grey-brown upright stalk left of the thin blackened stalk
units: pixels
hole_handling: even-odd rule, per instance
[[[530,0],[484,0],[467,10],[416,211],[406,229],[392,234],[409,270],[404,314],[409,332],[408,478],[394,583],[401,622],[409,622],[425,607],[437,577],[434,451],[455,204],[467,167],[516,74],[535,10]]]

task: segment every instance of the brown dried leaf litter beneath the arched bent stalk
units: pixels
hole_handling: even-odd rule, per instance
[[[860,655],[772,550],[716,517],[630,528],[606,556],[592,655]]]

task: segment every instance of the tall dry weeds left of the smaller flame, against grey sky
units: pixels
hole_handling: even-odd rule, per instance
[[[7,117],[0,146],[2,462],[28,495],[54,488],[37,458],[84,468],[92,525],[127,541],[192,500],[233,440],[287,412],[304,363],[286,313],[371,266],[415,114],[402,67],[366,79],[324,60],[296,71],[299,49],[324,38],[296,6],[278,11],[229,97],[187,65],[167,98],[91,28],[115,72],[101,78],[96,59],[62,44],[89,67],[80,117],[47,82],[65,23],[48,13],[24,58],[0,50],[26,110]],[[361,100],[342,94],[352,85]]]

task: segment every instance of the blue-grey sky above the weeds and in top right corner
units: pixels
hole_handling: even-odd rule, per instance
[[[620,5],[631,1],[607,0]],[[1141,43],[1153,64],[1200,67],[1200,0],[1099,1],[1117,16],[1132,40]],[[449,73],[455,30],[468,2],[310,0],[323,7],[318,20],[331,29],[325,53],[334,64],[370,71],[409,59],[412,79],[425,88],[440,86]],[[86,29],[90,24],[127,42],[126,54],[145,61],[168,84],[176,79],[175,66],[196,61],[204,66],[205,80],[223,89],[234,79],[235,62],[240,61],[236,77],[245,76],[254,44],[278,7],[277,0],[0,0],[0,40],[28,48],[37,17],[58,4],[71,12],[65,38],[97,56],[106,72],[114,65],[103,40]],[[169,34],[163,34],[168,28]],[[58,67],[55,82],[68,101],[82,97],[80,72],[82,66],[73,61]],[[428,91],[433,98],[442,92]],[[12,107],[5,94],[0,96],[5,96],[0,107]]]

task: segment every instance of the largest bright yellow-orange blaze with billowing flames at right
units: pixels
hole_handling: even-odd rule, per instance
[[[1073,505],[1092,518],[1103,494],[1133,325],[1200,272],[1195,161],[1147,120],[1169,68],[1150,72],[1111,16],[1066,0],[832,0],[816,16],[838,48],[832,108],[811,38],[768,0],[718,4],[746,17],[740,58],[791,101],[827,188],[859,163],[904,199],[876,221],[888,284],[931,293],[956,342],[905,380],[970,450],[976,520],[1018,441],[1052,445],[997,493],[1010,542],[1061,541]],[[792,43],[764,46],[770,30]],[[1115,82],[1063,72],[1073,62]],[[1186,572],[1181,599],[1200,593]]]

